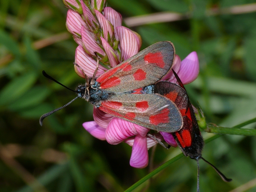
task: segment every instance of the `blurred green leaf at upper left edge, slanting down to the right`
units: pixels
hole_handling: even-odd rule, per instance
[[[0,30],[0,44],[3,44],[13,55],[20,57],[19,45],[13,40],[10,35]]]

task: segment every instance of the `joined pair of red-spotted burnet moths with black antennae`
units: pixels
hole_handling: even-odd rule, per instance
[[[174,71],[179,85],[160,81],[172,69],[174,57],[173,44],[162,41],[111,68],[97,79],[95,75],[98,67],[92,78],[84,73],[85,84],[72,90],[77,93],[76,98],[42,115],[40,125],[42,126],[45,117],[66,107],[77,98],[83,98],[105,113],[155,131],[173,133],[186,157],[189,156],[197,162],[199,159],[204,160],[201,157],[204,140],[185,87]],[[61,84],[44,71],[43,75]],[[213,168],[223,180],[230,181],[218,169],[214,166]]]

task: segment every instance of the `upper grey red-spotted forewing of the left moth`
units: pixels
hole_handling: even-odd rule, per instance
[[[100,88],[124,93],[159,81],[171,70],[175,48],[169,41],[149,46],[99,76]]]

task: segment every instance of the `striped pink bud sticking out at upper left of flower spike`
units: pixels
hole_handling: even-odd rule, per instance
[[[81,33],[81,27],[86,26],[84,20],[82,20],[81,15],[79,13],[74,12],[72,10],[67,11],[67,30],[73,34],[78,35]]]

